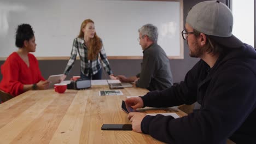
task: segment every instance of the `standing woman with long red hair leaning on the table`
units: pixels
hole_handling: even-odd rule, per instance
[[[103,62],[104,69],[108,73],[110,79],[116,79],[110,68],[106,52],[104,50],[102,40],[97,36],[95,32],[94,21],[87,19],[82,22],[80,33],[73,41],[73,47],[71,51],[71,57],[64,70],[64,77],[69,74],[74,65],[77,52],[80,56],[80,77],[81,79],[101,79],[101,62],[98,58],[99,54]]]

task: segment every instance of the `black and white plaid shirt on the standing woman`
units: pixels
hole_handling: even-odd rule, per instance
[[[77,52],[79,53],[79,57],[80,57],[80,61],[81,61],[81,63],[80,63],[81,72],[86,76],[89,76],[89,74],[94,75],[94,74],[98,73],[98,70],[101,69],[100,59],[97,56],[97,58],[95,60],[88,60],[88,55],[87,55],[88,49],[84,43],[84,39],[83,38],[75,38],[73,41],[71,57],[68,60],[67,66],[64,70],[64,74],[68,75],[70,73],[70,70],[73,68],[75,58],[77,57]],[[102,49],[99,54],[100,54],[100,57],[103,62],[102,65],[103,65],[104,69],[106,70],[106,72],[108,73],[108,75],[113,74],[103,46],[102,46]]]

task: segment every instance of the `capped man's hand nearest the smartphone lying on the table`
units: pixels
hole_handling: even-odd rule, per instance
[[[146,114],[141,112],[130,112],[127,117],[132,123],[132,130],[142,133],[141,122],[142,119],[146,117]]]

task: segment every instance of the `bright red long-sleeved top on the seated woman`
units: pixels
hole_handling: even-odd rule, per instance
[[[31,85],[40,80],[45,80],[39,70],[36,57],[28,53],[30,67],[21,59],[17,52],[11,53],[1,66],[3,79],[0,82],[0,89],[14,97],[24,93],[24,85]]]

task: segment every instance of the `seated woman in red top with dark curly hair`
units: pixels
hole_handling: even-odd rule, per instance
[[[34,31],[28,24],[21,24],[16,30],[15,45],[18,51],[11,53],[1,66],[3,79],[0,83],[0,99],[7,101],[30,89],[47,89],[49,82],[44,79],[37,58]],[[1,101],[0,101],[1,104]]]

